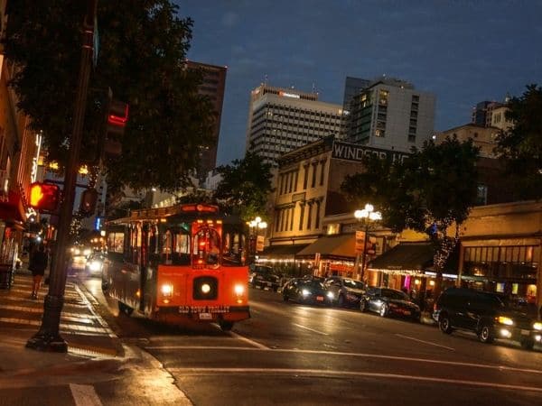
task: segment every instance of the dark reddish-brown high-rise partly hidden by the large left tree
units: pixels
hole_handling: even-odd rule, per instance
[[[207,173],[212,171],[217,165],[217,149],[220,137],[220,117],[222,115],[222,104],[224,101],[224,90],[226,88],[226,67],[209,65],[206,63],[187,62],[188,69],[200,69],[203,75],[203,81],[198,88],[201,95],[210,97],[214,106],[217,119],[214,125],[214,142],[210,147],[201,152],[201,162],[198,168],[198,178],[205,180]]]

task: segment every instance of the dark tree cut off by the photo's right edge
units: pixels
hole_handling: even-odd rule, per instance
[[[496,152],[504,161],[518,199],[542,198],[542,88],[529,85],[512,97],[505,116],[512,123],[497,138]]]

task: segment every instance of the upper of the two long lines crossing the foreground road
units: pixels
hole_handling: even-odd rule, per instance
[[[313,355],[332,355],[332,356],[354,356],[359,358],[377,358],[377,359],[388,359],[391,361],[408,361],[416,363],[425,363],[425,364],[443,364],[443,365],[454,365],[454,366],[465,366],[470,368],[481,368],[481,369],[495,369],[498,371],[507,371],[507,372],[519,372],[519,373],[528,373],[528,374],[542,374],[542,370],[538,369],[528,369],[528,368],[517,368],[514,366],[506,365],[491,365],[491,364],[474,364],[474,363],[462,363],[459,361],[443,361],[435,359],[426,359],[426,358],[414,358],[410,356],[397,356],[397,355],[378,355],[378,354],[363,354],[363,353],[346,353],[339,351],[322,351],[322,350],[302,350],[302,349],[286,349],[286,348],[254,348],[248,346],[145,346],[145,349],[154,349],[154,350],[238,350],[238,351],[269,351],[274,353],[296,353],[296,354],[313,354]]]

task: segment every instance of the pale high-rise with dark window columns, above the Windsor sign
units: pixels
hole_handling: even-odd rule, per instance
[[[349,113],[350,143],[409,152],[433,135],[435,95],[404,80],[379,78],[352,97]]]

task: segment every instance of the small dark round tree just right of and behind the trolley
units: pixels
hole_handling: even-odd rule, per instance
[[[220,206],[231,214],[248,221],[266,213],[269,193],[273,191],[271,165],[254,152],[242,160],[217,168],[222,180],[214,193]]]

